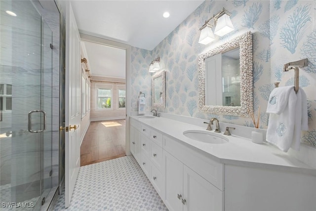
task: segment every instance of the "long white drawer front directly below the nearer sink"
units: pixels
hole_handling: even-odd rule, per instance
[[[163,149],[223,191],[224,164],[218,163],[204,155],[202,151],[195,149],[195,147],[181,142],[168,136],[163,136]]]

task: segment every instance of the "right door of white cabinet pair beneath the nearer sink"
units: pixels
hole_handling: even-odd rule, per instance
[[[183,211],[223,211],[224,192],[183,165]]]

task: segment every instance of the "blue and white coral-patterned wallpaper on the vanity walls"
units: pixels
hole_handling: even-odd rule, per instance
[[[205,20],[225,7],[232,13],[235,30],[210,44],[198,43]],[[316,147],[316,0],[211,0],[204,1],[153,50],[131,48],[131,105],[139,91],[146,94],[151,109],[150,62],[160,56],[166,70],[166,108],[159,112],[200,119],[216,117],[220,122],[254,127],[251,118],[215,115],[198,111],[198,54],[247,32],[252,33],[253,109],[260,107],[260,127],[266,129],[269,95],[275,87],[294,85],[294,71],[283,72],[285,63],[308,58],[300,69],[300,87],[308,98],[309,131],[302,142]],[[135,111],[137,108],[132,107]]]

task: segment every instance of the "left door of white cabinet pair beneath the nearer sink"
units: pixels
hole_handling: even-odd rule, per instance
[[[164,203],[169,211],[181,211],[183,204],[183,164],[163,150]],[[179,195],[179,196],[178,196]]]

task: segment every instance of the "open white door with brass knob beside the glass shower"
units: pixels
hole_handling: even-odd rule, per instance
[[[66,1],[65,207],[70,206],[80,168],[80,36],[70,1]]]

